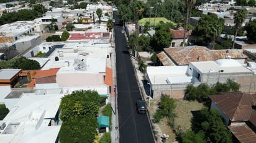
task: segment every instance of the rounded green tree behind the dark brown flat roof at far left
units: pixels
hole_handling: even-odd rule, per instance
[[[12,69],[40,69],[40,64],[33,60],[27,59],[24,56],[13,58],[7,62],[7,67]]]

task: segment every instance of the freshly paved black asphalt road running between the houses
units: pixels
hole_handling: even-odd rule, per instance
[[[117,17],[113,17],[118,23]],[[141,98],[134,66],[126,48],[121,25],[114,25],[116,44],[117,106],[119,114],[119,142],[155,142],[147,115],[139,115],[135,102]]]

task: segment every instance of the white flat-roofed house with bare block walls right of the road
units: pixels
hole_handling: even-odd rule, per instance
[[[254,66],[240,64],[231,58],[190,62],[188,66],[148,66],[146,79],[153,98],[160,98],[163,94],[184,98],[188,84],[198,86],[205,83],[211,86],[217,82],[226,83],[227,79],[240,84],[242,92],[256,91]]]

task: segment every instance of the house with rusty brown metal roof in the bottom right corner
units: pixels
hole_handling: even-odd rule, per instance
[[[216,109],[239,142],[256,141],[256,93],[222,92],[209,96]]]

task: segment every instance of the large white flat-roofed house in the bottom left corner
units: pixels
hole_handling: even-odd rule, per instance
[[[58,142],[60,90],[50,94],[27,89],[10,93],[4,99],[9,108],[0,121],[1,142]]]

